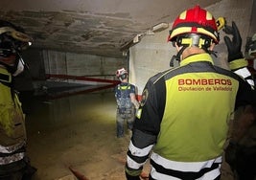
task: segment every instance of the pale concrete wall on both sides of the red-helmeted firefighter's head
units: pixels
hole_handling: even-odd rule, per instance
[[[243,38],[243,52],[246,36],[249,33],[251,21],[253,0],[222,0],[206,10],[210,11],[217,19],[223,16],[227,20],[227,24],[231,25],[235,21]],[[194,5],[192,5],[193,7]],[[177,14],[178,15],[178,14]],[[175,19],[174,19],[175,20]],[[161,23],[161,22],[159,22]],[[129,48],[129,81],[138,88],[138,94],[141,95],[143,88],[149,78],[157,72],[170,68],[170,59],[176,54],[175,48],[171,43],[167,43],[169,30],[173,22],[169,22],[168,29],[154,33],[145,34],[141,37],[140,42]],[[223,32],[220,32],[221,41],[216,46],[215,51],[218,52],[218,58],[214,58],[215,64],[223,68],[228,68],[226,63],[227,51],[223,41]],[[175,62],[175,66],[178,64]]]

